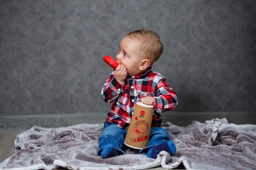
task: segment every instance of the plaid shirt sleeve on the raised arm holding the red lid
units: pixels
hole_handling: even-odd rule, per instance
[[[110,73],[109,79],[106,80],[101,89],[101,98],[110,104],[115,103],[118,96],[123,90],[123,86],[117,82],[113,72]]]

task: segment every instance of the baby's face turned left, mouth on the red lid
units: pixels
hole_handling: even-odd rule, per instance
[[[141,73],[139,70],[140,62],[142,60],[139,50],[140,42],[125,37],[120,42],[120,49],[117,53],[118,64],[123,64],[126,67],[128,76]]]

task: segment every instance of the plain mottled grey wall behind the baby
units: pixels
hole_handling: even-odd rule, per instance
[[[177,111],[256,110],[254,0],[0,0],[0,115],[107,112],[120,40],[152,29]]]

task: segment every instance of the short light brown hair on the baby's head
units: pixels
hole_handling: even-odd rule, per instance
[[[154,31],[148,29],[136,30],[128,33],[127,37],[138,40],[141,43],[140,50],[142,57],[150,60],[152,65],[164,52],[164,46],[160,37]]]

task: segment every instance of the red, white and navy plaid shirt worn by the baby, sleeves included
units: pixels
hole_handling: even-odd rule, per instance
[[[121,85],[113,72],[110,73],[101,90],[101,98],[112,104],[106,120],[117,123],[120,128],[126,127],[130,124],[136,102],[146,96],[156,99],[152,126],[161,126],[162,117],[159,113],[173,110],[178,104],[177,95],[166,84],[164,76],[149,68],[144,73],[128,76],[124,85]]]

